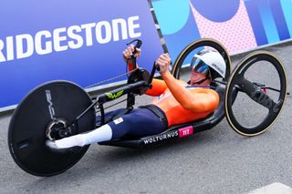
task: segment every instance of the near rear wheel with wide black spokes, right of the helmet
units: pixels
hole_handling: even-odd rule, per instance
[[[238,90],[235,102],[234,89]],[[226,118],[237,133],[259,135],[276,121],[286,97],[287,76],[281,61],[270,52],[254,52],[235,67],[228,80]]]

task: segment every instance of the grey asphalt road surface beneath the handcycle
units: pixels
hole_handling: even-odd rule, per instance
[[[284,62],[291,85],[292,43],[266,49]],[[233,58],[234,66],[242,56]],[[149,100],[140,97],[138,104]],[[250,110],[243,106],[246,116]],[[77,165],[50,178],[16,166],[6,140],[11,116],[2,116],[0,193],[245,193],[273,182],[291,187],[291,108],[287,97],[272,128],[254,138],[238,135],[224,119],[209,131],[150,148],[92,145]]]

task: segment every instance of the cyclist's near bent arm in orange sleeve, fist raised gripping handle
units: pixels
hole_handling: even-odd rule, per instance
[[[185,88],[180,82],[175,79],[168,70],[171,63],[171,58],[168,54],[163,54],[156,61],[160,66],[160,73],[166,86],[172,92],[173,97],[183,106],[183,108],[193,112],[214,111],[219,105],[219,96],[212,89],[197,89],[192,93],[189,89]]]

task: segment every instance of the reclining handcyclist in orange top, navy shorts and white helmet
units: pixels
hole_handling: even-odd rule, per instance
[[[136,49],[136,56],[141,56],[141,49]],[[129,46],[122,53],[128,63],[131,63],[133,51],[134,46]],[[133,109],[129,114],[89,132],[55,141],[47,140],[47,146],[52,149],[83,147],[125,135],[139,138],[159,134],[173,125],[207,117],[218,107],[219,95],[210,84],[212,79],[224,77],[226,65],[217,51],[203,49],[193,56],[188,83],[172,76],[168,54],[162,54],[155,63],[160,67],[163,80],[153,79],[152,88],[146,92],[154,97],[149,105]]]

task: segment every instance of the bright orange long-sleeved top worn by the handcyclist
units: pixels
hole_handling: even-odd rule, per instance
[[[155,97],[151,104],[160,107],[168,120],[168,127],[207,117],[219,105],[219,95],[213,89],[190,87],[175,79],[170,72],[163,80],[153,79],[146,94]]]

